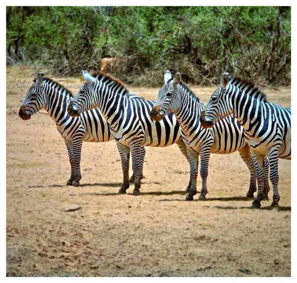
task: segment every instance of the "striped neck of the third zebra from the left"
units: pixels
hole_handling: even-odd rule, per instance
[[[184,134],[190,136],[197,128],[202,128],[199,119],[204,105],[185,91],[182,91],[180,95],[181,103],[174,114]]]

